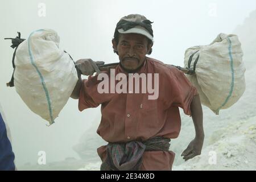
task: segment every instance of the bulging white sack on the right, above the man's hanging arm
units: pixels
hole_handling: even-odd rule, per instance
[[[191,68],[196,57],[200,55],[196,74],[186,76],[196,86],[201,103],[216,114],[220,109],[226,109],[236,103],[245,92],[245,65],[238,37],[220,34],[208,46],[188,48],[185,51],[185,67],[188,67],[192,53],[195,55]]]

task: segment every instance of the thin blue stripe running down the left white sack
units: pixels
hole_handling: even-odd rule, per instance
[[[44,31],[44,29],[40,29],[40,30],[35,30],[33,31],[31,35],[33,35],[35,32],[38,32],[38,31]],[[31,47],[30,47],[30,36],[28,36],[28,53],[30,55],[30,61],[31,61],[31,64],[33,65],[33,67],[36,69],[36,72],[38,72],[38,75],[40,76],[41,78],[41,83],[42,83],[42,86],[43,86],[43,89],[44,89],[44,93],[46,93],[46,99],[47,99],[47,104],[48,104],[48,110],[49,110],[49,116],[51,118],[51,121],[49,122],[50,125],[52,125],[54,123],[54,120],[53,120],[53,117],[52,117],[52,106],[51,106],[51,99],[49,97],[49,92],[48,92],[48,89],[46,87],[46,82],[44,82],[44,77],[42,75],[42,73],[39,71],[38,67],[36,66],[35,64],[35,61],[34,61],[34,57],[32,55],[32,51],[31,51]],[[49,125],[49,126],[50,126]]]

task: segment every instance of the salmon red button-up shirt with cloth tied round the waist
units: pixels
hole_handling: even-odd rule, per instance
[[[109,76],[113,74],[105,72]],[[146,57],[143,66],[137,71],[158,73],[159,94],[155,100],[148,100],[148,92],[129,93],[129,75],[118,65],[114,75],[125,73],[127,76],[127,93],[99,93],[98,75],[82,80],[79,110],[101,105],[101,122],[97,133],[106,142],[129,142],[147,140],[151,137],[177,138],[180,132],[181,119],[179,107],[185,114],[191,115],[190,104],[197,93],[184,73],[176,67]],[[115,81],[115,85],[119,81]],[[134,85],[135,85],[134,81]],[[155,86],[152,82],[153,88]],[[137,82],[140,88],[142,81]],[[109,84],[110,85],[110,84]],[[101,160],[106,157],[106,146],[98,148]],[[142,170],[170,170],[175,154],[172,151],[145,151],[142,156]]]

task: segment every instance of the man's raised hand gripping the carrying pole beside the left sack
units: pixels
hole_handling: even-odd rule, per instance
[[[98,72],[98,65],[104,64],[104,61],[93,61],[92,59],[80,59],[76,61],[77,68],[81,71],[82,75],[93,75]]]

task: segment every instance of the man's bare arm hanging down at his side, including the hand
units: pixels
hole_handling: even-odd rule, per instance
[[[183,159],[188,160],[200,155],[204,143],[203,110],[199,95],[194,96],[190,105],[191,115],[195,126],[196,137],[181,154]]]

